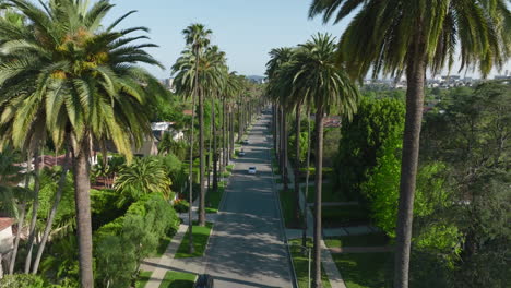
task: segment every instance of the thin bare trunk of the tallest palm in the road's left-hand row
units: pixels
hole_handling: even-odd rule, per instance
[[[199,226],[205,225],[205,190],[204,190],[204,92],[199,88]]]

